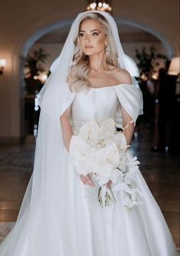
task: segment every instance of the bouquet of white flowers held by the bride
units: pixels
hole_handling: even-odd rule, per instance
[[[126,138],[117,132],[113,118],[97,124],[89,121],[70,140],[70,157],[79,175],[89,174],[98,186],[97,198],[102,206],[123,201],[125,208],[142,204],[141,191],[136,186],[139,161],[126,154]],[[106,184],[112,181],[110,186]]]

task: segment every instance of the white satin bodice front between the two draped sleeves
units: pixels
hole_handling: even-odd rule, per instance
[[[71,105],[72,126],[83,125],[86,121],[115,118],[117,105],[118,98],[114,86],[80,91]]]

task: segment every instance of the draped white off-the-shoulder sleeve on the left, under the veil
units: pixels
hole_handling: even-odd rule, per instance
[[[71,92],[67,83],[62,83],[52,90],[47,90],[41,99],[41,110],[47,115],[59,120],[64,111],[69,108],[75,97],[75,92]]]

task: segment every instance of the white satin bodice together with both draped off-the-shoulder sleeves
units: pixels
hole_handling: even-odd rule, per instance
[[[136,118],[142,115],[142,92],[129,84],[119,84],[101,88],[90,88],[87,92],[72,92],[67,83],[56,89],[47,87],[39,105],[51,118],[58,121],[67,108],[70,108],[73,125],[79,121],[102,121],[114,118],[116,127],[123,127],[121,106],[136,125]]]

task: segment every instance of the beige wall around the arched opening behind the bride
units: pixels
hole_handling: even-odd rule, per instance
[[[146,25],[166,38],[178,55],[178,0],[113,0],[113,15]],[[19,56],[28,38],[54,22],[74,18],[86,8],[85,0],[9,0],[0,6],[0,58],[6,58],[0,76],[0,139],[20,137]]]

